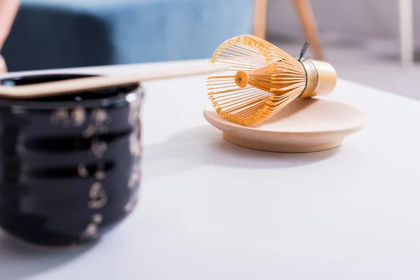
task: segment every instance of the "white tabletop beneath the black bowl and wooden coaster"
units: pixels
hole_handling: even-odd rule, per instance
[[[202,116],[205,76],[145,87],[132,216],[61,253],[0,232],[0,279],[420,279],[419,102],[339,80],[328,98],[365,110],[365,129],[340,148],[283,154],[223,140]]]

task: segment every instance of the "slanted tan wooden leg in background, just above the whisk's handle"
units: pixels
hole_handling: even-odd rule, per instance
[[[323,60],[323,51],[321,47],[321,40],[318,34],[318,27],[311,5],[307,0],[294,0],[295,8],[300,16],[302,27],[306,33],[307,40],[311,50],[314,52],[314,58]]]

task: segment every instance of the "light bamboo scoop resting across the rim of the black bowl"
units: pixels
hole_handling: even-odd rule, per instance
[[[195,76],[225,70],[228,70],[228,66],[207,64],[203,66],[191,66],[178,69],[155,70],[128,76],[94,76],[87,78],[74,78],[70,80],[58,80],[47,83],[36,83],[33,85],[16,85],[12,87],[0,85],[0,97],[9,97],[13,99],[48,97],[83,92],[85,90],[99,90],[106,87],[134,85],[139,82],[151,80]]]

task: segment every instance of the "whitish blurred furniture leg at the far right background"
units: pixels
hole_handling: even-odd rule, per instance
[[[413,2],[398,0],[400,14],[400,59],[402,66],[414,64]]]

